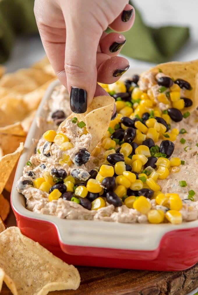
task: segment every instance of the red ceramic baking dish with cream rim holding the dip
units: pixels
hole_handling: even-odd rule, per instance
[[[138,72],[130,71],[127,76]],[[32,139],[40,138],[45,131],[38,129],[37,118],[43,116],[44,104],[58,83],[49,86],[41,101],[17,166],[11,204],[22,233],[74,265],[176,271],[197,263],[198,220],[179,225],[66,220],[25,208],[16,182],[36,147]]]

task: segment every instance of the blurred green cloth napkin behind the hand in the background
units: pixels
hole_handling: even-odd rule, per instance
[[[0,0],[0,63],[9,58],[16,35],[38,32],[33,6],[34,0]],[[165,62],[189,37],[187,27],[150,28],[137,9],[135,12],[133,27],[123,33],[127,40],[121,52],[124,55],[153,63]]]

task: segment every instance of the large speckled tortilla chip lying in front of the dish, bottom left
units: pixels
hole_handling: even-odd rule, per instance
[[[80,275],[73,265],[22,235],[18,227],[9,227],[0,234],[0,290],[3,281],[13,294],[45,295],[76,290]]]

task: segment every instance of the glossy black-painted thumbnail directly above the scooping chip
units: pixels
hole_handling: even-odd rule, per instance
[[[71,86],[70,108],[77,114],[85,113],[87,110],[87,92],[78,87]]]

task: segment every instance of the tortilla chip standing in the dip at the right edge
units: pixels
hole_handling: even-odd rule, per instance
[[[186,97],[192,99],[193,105],[182,111],[186,112],[186,110],[190,111],[196,109],[198,106],[198,59],[189,62],[172,61],[170,63],[161,63],[151,68],[149,71],[158,72],[159,69],[162,70],[165,75],[175,80],[181,78],[191,84],[192,90],[185,90],[184,93]]]

